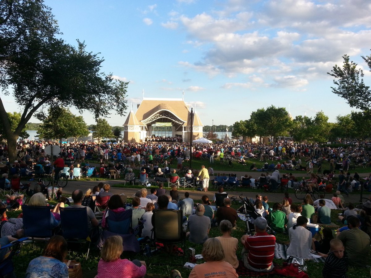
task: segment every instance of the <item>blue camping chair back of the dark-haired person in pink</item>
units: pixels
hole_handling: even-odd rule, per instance
[[[132,233],[131,229],[131,220],[133,216],[132,209],[127,209],[125,211],[118,213],[108,209],[106,215],[108,215],[106,217],[108,231],[121,235],[127,235]]]

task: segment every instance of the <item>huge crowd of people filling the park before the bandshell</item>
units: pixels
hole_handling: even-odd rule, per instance
[[[17,160],[13,163],[8,162],[9,169],[7,169],[7,172],[12,173],[13,171],[13,175],[32,176],[40,171],[50,171],[53,165],[43,151],[48,143],[50,142],[22,142],[18,147]],[[4,161],[7,157],[7,146],[0,146],[0,150],[0,160]],[[209,200],[209,197],[204,195],[202,196],[202,203],[197,204],[190,198],[189,192],[185,192],[183,197],[183,193],[178,192],[176,185],[173,185],[171,191],[167,192],[163,185],[164,181],[161,181],[161,179],[158,180],[158,187],[152,186],[150,192],[147,191],[147,188],[142,188],[135,193],[129,205],[122,201],[122,196],[112,194],[108,184],[100,183],[85,194],[81,190],[74,191],[72,193],[73,205],[68,204],[67,200],[61,196],[60,191],[57,196],[59,203],[50,214],[50,225],[53,227],[59,225],[60,207],[73,209],[86,206],[92,239],[98,241],[99,224],[102,228],[108,228],[108,223],[105,221],[107,214],[105,212],[102,222],[99,223],[92,209],[94,208],[93,201],[96,196],[109,196],[107,206],[110,213],[119,214],[131,209],[132,226],[137,226],[141,220],[145,220],[142,236],[148,238],[152,237],[151,230],[155,225],[152,222],[155,209],[180,209],[183,212],[182,221],[187,225],[187,238],[193,244],[203,244],[202,255],[206,261],[205,264],[193,268],[190,277],[204,277],[210,274],[210,269],[213,272],[224,271],[227,273],[227,277],[238,277],[236,268],[239,266],[239,261],[236,252],[239,243],[243,246],[241,257],[245,268],[260,272],[272,271],[274,268],[275,236],[267,233],[269,228],[277,233],[288,233],[290,240],[287,250],[288,255],[308,259],[311,257],[311,252],[315,251],[326,258],[323,270],[324,277],[330,277],[329,274],[335,272],[339,275],[345,274],[348,264],[362,267],[367,264],[365,254],[369,254],[370,251],[370,211],[365,207],[365,210],[358,214],[354,211],[354,205],[345,203],[345,198],[341,195],[349,192],[348,185],[353,190],[361,185],[357,173],[353,177],[345,174],[349,172],[351,163],[369,163],[369,153],[363,146],[336,149],[286,141],[276,142],[276,144],[198,145],[191,149],[187,143],[175,142],[174,140],[168,142],[149,140],[141,144],[121,143],[117,145],[79,142],[64,144],[60,157],[56,157],[54,167],[56,171],[64,171],[65,168],[68,168],[68,173],[73,173],[74,162],[78,162],[78,167],[81,167],[82,173],[86,174],[90,168],[88,160],[94,156],[101,159],[102,163],[92,175],[107,176],[110,170],[114,170],[122,175],[125,180],[133,182],[136,178],[141,179],[141,175],[148,178],[148,173],[152,173],[154,177],[158,178],[175,176],[177,173],[171,173],[169,167],[173,163],[172,159],[177,162],[174,163],[173,167],[175,168],[175,165],[181,166],[184,160],[188,160],[191,155],[194,155],[195,158],[206,156],[210,163],[214,162],[215,156],[219,156],[221,162],[226,156],[240,159],[240,162],[248,158],[277,161],[277,163],[265,162],[262,174],[258,179],[246,175],[238,181],[242,186],[265,188],[265,185],[269,185],[266,188],[271,191],[275,191],[277,185],[282,182],[290,183],[291,187],[300,182],[290,174],[280,177],[279,171],[300,168],[311,175],[306,181],[309,189],[320,186],[326,189],[334,178],[334,171],[338,169],[337,167],[340,167],[337,165],[341,164],[343,170],[340,171],[338,176],[337,189],[339,192],[334,193],[331,200],[321,198],[315,203],[309,195],[303,199],[300,205],[297,205],[292,203],[291,198],[286,193],[282,203],[275,203],[273,208],[270,209],[268,197],[257,195],[256,200],[252,200],[255,211],[259,214],[259,217],[252,221],[256,234],[244,235],[240,240],[232,236],[238,220],[237,210],[232,207],[228,194],[223,192],[223,185],[231,181],[236,182],[236,176],[233,174],[228,176],[217,174],[214,179],[215,182],[220,182],[218,184],[220,186],[219,193],[226,194],[223,205],[216,207],[215,211],[211,207],[211,205],[216,205],[215,198]],[[282,158],[285,158],[285,161],[281,163],[280,159]],[[60,159],[60,164],[57,161],[58,159]],[[321,171],[321,163],[324,159],[327,159],[330,163],[329,173]],[[25,165],[26,167],[24,167]],[[273,169],[272,167],[269,168],[270,166],[273,166]],[[135,176],[133,169],[137,169],[137,167],[140,169],[140,173]],[[316,173],[314,173],[315,167],[317,168]],[[28,171],[22,172],[21,169],[23,168]],[[181,167],[177,168],[181,169]],[[256,171],[257,168],[254,168],[252,167],[250,170]],[[210,170],[210,168],[207,169],[203,166],[198,174],[200,186],[205,194],[208,192],[210,171],[212,171],[212,168]],[[273,171],[271,175],[269,175],[270,171]],[[188,178],[196,178],[197,180],[197,177],[192,176],[192,173],[187,174],[189,175]],[[7,176],[2,176],[2,178],[4,178],[4,184],[8,184]],[[368,182],[369,180],[365,181],[362,186],[367,188]],[[47,189],[34,189],[34,195],[30,198],[28,205],[45,205],[43,192],[47,192]],[[22,205],[21,198],[9,196],[8,199],[9,202]],[[341,218],[339,217],[339,221],[344,226],[338,229],[338,234],[335,236],[332,235],[331,230],[328,231],[325,228],[323,239],[321,241],[314,239],[312,233],[306,227],[309,222],[313,221],[324,225],[330,224],[331,211],[329,206],[331,205],[334,205],[335,208],[347,208]],[[6,205],[3,204],[2,206]],[[0,228],[1,239],[4,237],[4,242],[23,235],[23,227],[20,223],[22,218],[17,218],[17,220],[7,219],[6,216],[3,218],[6,225],[3,224]],[[221,236],[210,238],[210,229],[214,226],[219,227]],[[171,252],[170,249],[168,251]],[[110,277],[126,277],[125,275],[127,277],[142,277],[146,273],[145,262],[122,260],[120,259],[121,253],[121,237],[112,236],[105,239],[101,249],[97,278],[106,277],[107,273]],[[263,256],[264,259],[257,259],[257,256]],[[50,272],[50,275],[55,269],[65,275],[65,265],[62,263],[65,257],[64,239],[58,235],[53,236],[46,245],[42,256],[30,262],[26,277],[35,277],[37,271],[41,269],[36,269],[37,265],[41,265],[41,270]],[[173,277],[180,277],[180,273],[177,271],[173,271],[172,275]]]

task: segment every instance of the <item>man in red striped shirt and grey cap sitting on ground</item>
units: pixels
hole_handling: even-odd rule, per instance
[[[243,235],[241,238],[241,243],[244,246],[242,261],[246,268],[253,271],[272,271],[276,237],[266,232],[267,221],[261,216],[255,219],[254,226],[255,235]]]

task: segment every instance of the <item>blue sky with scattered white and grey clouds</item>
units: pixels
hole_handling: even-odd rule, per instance
[[[327,74],[342,56],[371,73],[370,0],[46,0],[66,43],[85,41],[102,71],[144,97],[181,98],[204,125],[231,125],[262,107],[285,107],[330,122],[352,110]],[[144,91],[144,94],[143,94]],[[3,98],[3,97],[2,97]],[[12,97],[8,112],[19,109]],[[71,111],[79,115],[72,107]],[[84,112],[85,122],[95,123]],[[126,116],[106,118],[122,125]],[[39,122],[32,118],[30,122]]]

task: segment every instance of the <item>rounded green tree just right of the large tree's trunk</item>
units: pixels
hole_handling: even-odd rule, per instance
[[[49,115],[37,129],[40,138],[59,139],[78,138],[89,135],[86,123],[82,116],[76,117],[68,108],[51,107]]]

